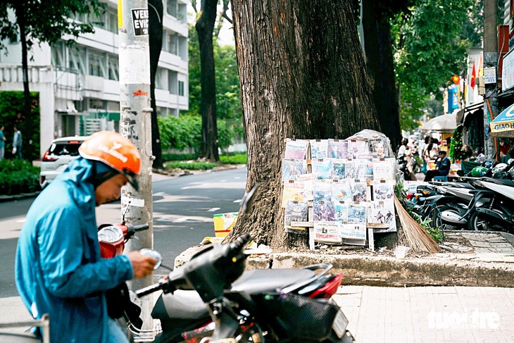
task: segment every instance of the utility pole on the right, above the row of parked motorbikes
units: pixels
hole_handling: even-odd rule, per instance
[[[498,39],[496,37],[496,0],[484,0],[484,66],[494,67],[498,80]],[[482,69],[483,70],[483,69]],[[487,159],[492,161],[496,147],[494,138],[488,135],[489,123],[498,115],[498,87],[487,84],[484,96],[484,150]]]

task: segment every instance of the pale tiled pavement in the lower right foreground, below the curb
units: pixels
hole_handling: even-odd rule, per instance
[[[357,342],[514,342],[514,289],[343,286]]]

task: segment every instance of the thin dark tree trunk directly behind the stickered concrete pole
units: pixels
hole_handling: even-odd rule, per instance
[[[163,168],[161,133],[157,124],[156,73],[163,47],[163,1],[149,0],[149,45],[150,45],[150,102],[151,102],[151,150],[155,159],[153,168]]]

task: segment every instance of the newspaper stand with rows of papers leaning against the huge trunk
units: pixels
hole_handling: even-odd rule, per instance
[[[367,131],[367,132],[365,132],[365,131]],[[374,141],[374,143],[371,143],[371,140],[365,141],[366,142],[365,144],[368,144],[367,149],[370,149],[372,144],[376,144],[376,141],[381,140],[381,139],[386,139],[387,143],[389,144],[389,139],[387,139],[387,137],[385,137],[380,132],[372,132],[371,130],[363,130],[362,132],[365,132],[365,135],[368,135],[370,132],[373,135],[376,133],[378,133],[379,135],[382,135],[381,138],[379,138],[379,139],[376,139],[377,136],[375,135],[374,139],[372,139]],[[356,134],[356,135],[359,135],[362,132],[358,132],[358,134]],[[363,144],[362,140],[359,141],[359,139],[349,138],[349,139],[344,139],[344,141],[346,141],[348,143],[348,145],[347,145],[348,149],[346,151],[344,151],[344,156],[342,156],[342,157],[333,156],[332,153],[334,152],[334,150],[331,151],[331,148],[330,148],[331,141],[332,141],[332,144],[338,144],[337,142],[341,142],[337,138],[335,138],[335,139],[327,139],[327,141],[329,142],[328,143],[329,147],[327,149],[327,154],[325,154],[326,157],[320,157],[319,156],[320,154],[318,154],[318,152],[321,150],[320,149],[320,146],[322,146],[321,144],[323,144],[323,142],[321,142],[322,139],[299,139],[298,141],[296,141],[296,139],[294,137],[292,139],[287,139],[287,142],[291,143],[291,141],[293,142],[292,145],[294,145],[293,149],[291,151],[289,151],[291,154],[288,154],[286,152],[286,156],[284,156],[284,162],[282,165],[282,180],[284,181],[284,200],[283,200],[284,205],[283,206],[286,208],[285,213],[284,213],[284,220],[286,221],[286,224],[284,226],[285,226],[286,230],[292,230],[292,229],[302,230],[303,229],[304,232],[308,232],[309,246],[311,247],[311,249],[315,249],[315,242],[320,242],[320,243],[330,244],[330,245],[334,245],[334,246],[346,246],[346,245],[360,246],[360,247],[368,246],[372,250],[375,249],[375,232],[377,232],[377,231],[388,232],[388,230],[390,228],[391,228],[391,230],[396,230],[396,227],[389,227],[389,223],[391,223],[389,221],[391,219],[391,217],[389,216],[389,213],[387,216],[384,216],[385,211],[389,211],[393,215],[395,212],[394,211],[394,202],[391,202],[392,199],[389,200],[390,197],[392,197],[392,195],[393,195],[392,190],[390,192],[387,191],[387,194],[388,194],[387,199],[385,199],[384,197],[382,197],[382,199],[380,199],[380,196],[377,199],[377,197],[376,197],[376,195],[377,195],[376,192],[379,192],[379,191],[377,191],[377,189],[380,189],[379,188],[380,182],[388,182],[388,185],[385,186],[386,187],[385,189],[392,189],[391,184],[394,187],[394,175],[393,175],[394,167],[393,166],[388,167],[389,168],[388,171],[391,172],[391,175],[393,175],[393,176],[391,176],[392,179],[388,178],[388,177],[383,177],[383,176],[375,177],[375,171],[372,171],[372,175],[371,175],[371,179],[370,179],[368,171],[365,172],[365,177],[363,177],[363,175],[361,174],[362,170],[360,170],[359,172],[355,172],[355,173],[353,173],[353,171],[352,171],[350,173],[353,176],[359,175],[359,177],[349,177],[348,176],[349,166],[346,164],[346,163],[351,164],[352,166],[350,167],[351,168],[350,170],[353,170],[353,168],[361,168],[362,164],[360,164],[360,163],[363,163],[363,161],[368,159],[368,161],[370,161],[372,163],[372,170],[375,170],[375,159],[380,160],[380,161],[386,161],[386,159],[383,157],[384,154],[382,154],[382,156],[380,156],[380,158],[377,158],[376,154],[374,155],[374,157],[370,156],[370,155],[362,156],[361,154],[356,154],[355,146],[358,145],[358,143]],[[381,142],[384,142],[384,141],[382,140]],[[351,145],[351,144],[356,144],[356,145]],[[352,150],[353,154],[351,154],[351,152],[350,152],[350,146],[353,146],[353,150]],[[392,151],[390,149],[390,144],[387,147],[389,148],[389,150],[387,151],[388,154],[385,154],[385,157],[389,158],[389,157],[392,157],[393,155],[392,155]],[[306,148],[306,149],[302,150],[302,148]],[[313,149],[311,149],[311,148],[313,148]],[[287,149],[286,149],[286,151],[287,151]],[[339,150],[337,150],[335,152],[339,152]],[[364,153],[364,154],[367,154],[367,153]],[[305,156],[305,157],[302,158],[301,156]],[[317,158],[311,158],[314,156],[317,156]],[[339,156],[341,156],[341,154],[339,154]],[[348,156],[348,157],[346,157],[346,156]],[[359,157],[356,157],[356,156],[359,156]],[[339,164],[341,164],[340,161],[344,161],[344,163],[342,163],[342,164],[344,164],[345,166],[344,166],[344,168],[341,169],[343,176],[339,177],[339,178],[341,180],[345,180],[344,182],[355,182],[355,184],[351,185],[351,199],[348,201],[347,204],[345,204],[346,201],[344,201],[344,202],[341,201],[341,203],[338,204],[337,201],[334,200],[333,194],[332,194],[332,198],[330,199],[330,201],[327,200],[329,203],[332,203],[330,205],[332,208],[332,211],[336,211],[337,214],[339,214],[339,215],[341,214],[341,212],[340,212],[341,205],[342,205],[342,207],[346,208],[344,211],[347,211],[346,212],[346,216],[348,216],[347,220],[337,219],[337,216],[336,216],[336,219],[334,220],[334,213],[332,213],[332,218],[328,219],[329,221],[325,221],[325,219],[322,219],[320,221],[320,219],[319,219],[320,216],[323,216],[323,217],[326,216],[325,211],[327,210],[328,207],[321,205],[321,207],[318,207],[318,210],[317,210],[318,212],[316,212],[316,209],[315,209],[316,205],[314,204],[314,202],[319,201],[320,203],[323,203],[325,200],[319,200],[319,198],[318,198],[318,200],[314,199],[314,201],[313,201],[313,200],[311,200],[312,199],[311,198],[311,199],[304,199],[302,201],[294,201],[294,200],[291,201],[292,199],[289,198],[291,196],[290,192],[292,192],[292,189],[296,190],[295,187],[299,187],[297,185],[291,185],[291,183],[289,183],[290,186],[289,186],[288,192],[285,192],[285,187],[287,187],[286,186],[287,182],[293,182],[293,183],[295,182],[295,181],[286,181],[286,180],[296,180],[296,175],[301,176],[301,174],[304,174],[304,173],[311,175],[311,177],[312,177],[312,175],[315,175],[315,177],[312,177],[310,179],[304,178],[303,180],[301,180],[300,183],[304,182],[305,180],[311,180],[311,182],[316,182],[316,181],[318,181],[318,179],[326,180],[326,179],[334,178],[335,174],[334,175],[329,174],[329,175],[331,175],[330,177],[326,177],[326,176],[322,177],[319,174],[319,173],[322,173],[322,172],[320,172],[320,170],[323,170],[323,169],[320,168],[320,165],[323,165],[323,163],[324,163],[323,160],[325,158],[330,159],[330,160],[335,159],[336,161],[339,161],[339,162],[337,162]],[[337,158],[339,158],[339,160]],[[300,161],[302,159],[303,159],[303,161]],[[317,166],[314,167],[313,161],[315,163],[317,163]],[[303,167],[302,167],[304,170],[303,173],[301,171],[299,171],[299,170],[301,170],[301,168],[299,168],[298,165],[295,164],[295,163],[299,163],[299,162],[303,162]],[[286,164],[286,163],[291,163],[291,164]],[[354,163],[354,164],[352,164],[352,163]],[[387,161],[387,163],[393,163],[393,162]],[[387,163],[384,163],[384,164],[387,164]],[[330,162],[330,164],[332,164],[332,162]],[[382,164],[382,171],[384,170],[383,169],[384,164]],[[336,170],[336,168],[334,166],[335,165],[333,165],[331,167],[332,170]],[[387,166],[389,166],[389,164],[387,164]],[[368,167],[365,167],[365,168],[370,168],[369,162],[368,162]],[[315,170],[315,171],[313,172],[313,170]],[[284,175],[286,175],[286,177],[284,177]],[[341,174],[339,173],[338,175],[341,175]],[[292,177],[292,176],[294,176],[295,178],[294,179],[287,178],[287,177]],[[331,182],[341,182],[341,180],[331,181]],[[327,182],[327,183],[331,183],[331,182]],[[363,195],[362,193],[359,193],[361,195],[358,196],[358,197],[361,197],[361,199],[358,199],[358,198],[356,199],[356,196],[355,196],[356,193],[354,192],[353,187],[357,183],[360,185],[358,187],[360,189],[362,189],[361,192],[364,192],[364,189],[365,189],[365,193],[366,193],[365,199],[362,199],[362,197],[361,197]],[[377,189],[374,190],[373,189],[374,186],[377,186]],[[311,185],[311,187],[313,187],[313,185]],[[327,187],[330,188],[330,186],[327,186]],[[346,186],[341,186],[341,187],[346,187]],[[323,188],[325,189],[325,187],[323,187]],[[320,192],[320,189],[317,189],[314,187],[313,187],[313,189]],[[341,188],[341,190],[346,192],[346,188]],[[325,192],[325,191],[322,191],[322,192]],[[333,193],[333,191],[332,191],[332,193]],[[286,194],[289,194],[289,195],[287,196]],[[346,192],[346,194],[348,194],[348,192]],[[373,197],[372,197],[372,194],[374,194]],[[312,197],[312,195],[311,195],[311,197]],[[346,197],[344,197],[344,198],[346,198]],[[287,201],[286,201],[286,199],[287,199]],[[321,198],[321,199],[323,199],[323,198]],[[339,199],[343,199],[343,198],[339,198]],[[295,204],[295,206],[296,206],[296,204],[301,204],[301,202],[303,202],[302,206],[304,206],[303,207],[304,210],[301,210],[301,211],[303,211],[303,215],[297,216],[297,217],[298,218],[303,217],[303,218],[306,218],[307,220],[295,220],[296,213],[295,214],[293,214],[293,213],[294,213],[294,211],[297,211],[297,212],[299,212],[299,211],[294,207],[289,207],[289,210],[288,210],[288,206],[292,206],[291,203]],[[305,204],[306,202],[307,202],[307,204]],[[287,203],[287,204],[285,204],[285,203]],[[317,204],[319,204],[319,203],[317,203]],[[359,204],[361,204],[361,207],[362,207],[362,205],[366,206],[365,215],[363,215],[362,210],[359,211],[359,210],[356,210],[355,207],[351,207],[351,206],[359,206]],[[391,204],[393,204],[392,208],[391,208]],[[317,205],[317,206],[319,206],[319,205]],[[339,211],[335,210],[335,208],[337,208],[337,207],[339,207],[339,209],[338,209]],[[349,220],[349,213],[351,213],[351,211],[353,211],[353,221]],[[381,211],[383,212],[382,214],[380,214]],[[316,214],[316,213],[318,213],[318,214]],[[355,213],[358,213],[358,214],[356,215]],[[373,215],[372,215],[372,213],[373,213]],[[380,215],[380,217],[377,217],[374,215],[377,215],[377,216]],[[286,219],[287,216],[289,216],[289,219]],[[315,220],[315,218],[318,218],[318,219]],[[325,217],[325,218],[330,218],[330,216]],[[341,217],[339,217],[339,218],[341,218]],[[362,218],[365,218],[365,219],[362,220]],[[379,218],[380,220],[377,218]],[[334,221],[332,221],[332,220],[334,220]],[[393,216],[393,220],[394,220],[394,216]],[[373,222],[375,222],[375,223],[373,223]],[[320,232],[320,230],[324,230],[324,231]],[[288,231],[288,232],[291,232],[291,231]],[[339,232],[339,236],[337,236],[334,232]],[[323,239],[325,237],[327,237],[327,240]],[[339,237],[339,239],[337,239],[337,237]],[[349,238],[349,237],[353,237],[353,238]]]

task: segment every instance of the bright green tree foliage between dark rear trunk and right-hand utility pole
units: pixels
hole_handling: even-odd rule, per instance
[[[403,129],[417,127],[425,113],[430,116],[430,99],[440,101],[439,88],[465,70],[468,49],[477,44],[481,30],[472,15],[477,2],[481,1],[418,0],[394,18],[391,32]]]

